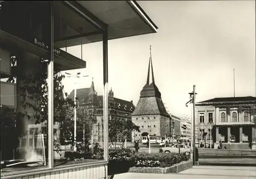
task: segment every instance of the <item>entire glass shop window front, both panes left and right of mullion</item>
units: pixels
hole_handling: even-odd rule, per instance
[[[1,6],[1,172],[49,167],[49,106],[54,166],[104,160],[103,113],[92,108],[103,111],[102,34],[68,5],[54,2],[50,76],[51,3],[5,1]]]

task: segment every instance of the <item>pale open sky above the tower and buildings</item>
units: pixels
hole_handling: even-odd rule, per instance
[[[191,115],[185,107],[196,85],[196,101],[255,96],[255,1],[138,1],[158,26],[158,33],[109,41],[109,90],[136,106],[146,83],[150,45],[155,84],[165,107],[176,116]],[[80,47],[70,54],[81,57]],[[88,53],[90,52],[90,53]],[[102,42],[83,46],[86,78],[76,88],[103,94]],[[74,71],[72,71],[74,74]],[[63,80],[66,92],[74,79]]]

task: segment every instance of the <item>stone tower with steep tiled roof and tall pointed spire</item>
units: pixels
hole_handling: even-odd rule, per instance
[[[140,92],[138,104],[131,114],[132,122],[140,127],[140,132],[133,132],[132,138],[143,142],[147,135],[151,139],[160,139],[169,134],[170,115],[167,113],[161,93],[155,84],[152,58],[148,62],[146,84]]]

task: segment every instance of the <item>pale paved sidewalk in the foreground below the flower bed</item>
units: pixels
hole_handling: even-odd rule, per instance
[[[194,166],[180,173],[156,174],[156,173],[121,173],[109,176],[109,179],[125,178],[256,178],[256,167],[241,166]]]

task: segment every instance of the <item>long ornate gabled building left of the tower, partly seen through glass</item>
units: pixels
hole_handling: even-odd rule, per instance
[[[74,99],[74,90],[68,96]],[[84,117],[86,121],[92,124],[92,140],[94,143],[103,142],[103,101],[102,95],[98,95],[94,82],[92,81],[90,88],[77,89],[77,98],[79,101],[79,107],[83,109]],[[112,89],[109,91],[109,120],[119,119],[125,121],[131,120],[131,114],[134,111],[135,106],[133,101],[127,101],[114,97]],[[120,139],[122,136],[118,136]],[[117,137],[117,138],[118,138]],[[131,137],[127,138],[127,141],[131,141]],[[120,141],[120,140],[119,140]]]

